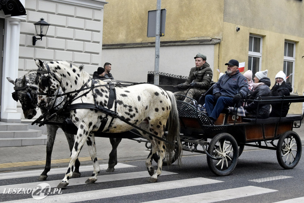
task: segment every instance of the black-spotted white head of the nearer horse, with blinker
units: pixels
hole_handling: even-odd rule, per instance
[[[41,60],[35,60],[38,66],[36,75],[36,84],[38,86],[38,104],[45,107],[51,96],[60,87],[61,76],[55,71],[51,72],[49,65],[44,64]]]

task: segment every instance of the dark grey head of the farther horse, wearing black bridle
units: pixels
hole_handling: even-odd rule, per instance
[[[32,119],[37,111],[37,86],[31,81],[31,78],[26,78],[24,75],[19,79],[13,81],[11,78],[6,78],[10,83],[14,84],[14,92],[12,97],[15,101],[20,101],[24,117],[26,119]]]

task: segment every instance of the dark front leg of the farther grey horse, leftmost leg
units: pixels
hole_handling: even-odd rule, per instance
[[[47,125],[47,158],[45,161],[45,167],[41,175],[37,178],[39,181],[44,181],[47,179],[47,172],[51,169],[51,156],[55,141],[55,136],[57,132],[58,127]]]

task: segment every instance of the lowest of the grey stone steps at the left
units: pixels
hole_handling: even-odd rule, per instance
[[[39,137],[0,138],[0,147],[46,145],[47,135]]]

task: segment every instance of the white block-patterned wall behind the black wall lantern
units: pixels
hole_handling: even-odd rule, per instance
[[[34,59],[84,64],[85,71],[93,74],[102,62],[103,7],[106,3],[103,0],[25,0],[27,15],[20,23],[18,77],[37,68]],[[36,35],[33,23],[40,18],[50,26],[47,36],[33,46],[32,37]],[[19,102],[17,112],[24,119]],[[34,118],[39,115],[40,111]]]

